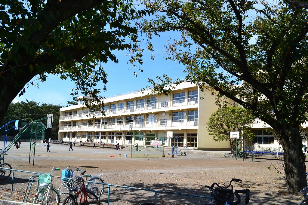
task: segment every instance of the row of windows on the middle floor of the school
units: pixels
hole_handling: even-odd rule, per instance
[[[173,122],[184,122],[184,116],[185,112],[180,111],[180,112],[173,112],[172,120]],[[125,123],[131,124],[134,122],[135,116],[126,116],[125,117]],[[193,110],[193,111],[188,111],[188,121],[195,121],[198,119],[198,111]],[[82,122],[82,125],[106,125],[109,120],[109,125],[123,125],[124,123],[124,117],[118,117],[118,118],[103,118],[102,123],[101,119],[95,119],[95,120],[88,120]],[[147,122],[156,122],[156,114],[150,114],[147,115]],[[167,125],[168,119],[161,119],[160,124],[161,125]],[[144,123],[144,115],[136,115],[136,124],[143,124]],[[63,126],[76,126],[77,121],[73,122],[64,122]]]

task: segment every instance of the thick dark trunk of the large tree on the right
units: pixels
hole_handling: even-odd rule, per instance
[[[284,150],[284,170],[288,183],[288,192],[289,194],[294,194],[307,186],[302,136],[300,136],[299,126],[296,125],[290,127],[282,125],[278,129],[280,132],[278,140]]]

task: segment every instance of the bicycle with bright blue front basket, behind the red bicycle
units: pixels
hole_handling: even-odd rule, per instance
[[[67,181],[62,179],[65,182],[63,184],[61,184],[60,187],[58,188],[58,191],[59,191],[61,197],[62,197],[63,194],[69,192],[69,190],[72,189],[72,188],[80,188],[80,187],[78,187],[78,183],[76,183],[76,178],[80,177],[82,174],[76,176],[75,178],[72,178],[72,177],[73,177],[75,171],[78,172],[78,171],[82,171],[82,170],[80,170],[78,167],[75,170],[72,170],[70,168],[70,166],[68,166],[67,169],[70,170],[69,172],[71,173],[71,175],[69,177],[71,179],[67,179]],[[62,176],[66,177],[64,175],[62,175]],[[103,184],[97,184],[97,183],[104,183],[104,180],[101,179],[100,176],[102,176],[102,174],[94,175],[94,176],[92,176],[91,179],[89,179],[89,182],[86,183],[86,188],[94,191],[95,195],[97,197],[99,196],[99,191],[105,187]],[[91,177],[91,175],[84,175],[84,177]],[[91,182],[97,182],[97,183],[91,183]],[[91,195],[89,197],[91,198]],[[91,199],[94,199],[94,198],[91,198]]]

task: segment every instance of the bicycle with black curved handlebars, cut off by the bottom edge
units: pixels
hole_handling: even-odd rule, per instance
[[[229,203],[227,203],[227,201],[233,202],[234,201],[233,185],[232,185],[233,181],[241,183],[242,180],[241,179],[232,178],[228,185],[225,185],[227,183],[226,182],[224,184],[213,183],[210,187],[209,186],[205,186],[205,187],[207,187],[211,191],[211,197],[214,198],[214,201],[205,202],[205,205],[210,205],[210,204],[211,205],[213,205],[213,204],[216,204],[216,205],[224,205],[224,204],[226,204],[227,205],[227,204],[229,204]],[[217,187],[214,188],[215,186],[217,186]],[[229,191],[222,191],[222,190],[229,190]],[[242,193],[242,192],[240,192],[240,193]],[[249,193],[248,193],[248,197],[249,197]],[[249,201],[249,199],[248,199],[248,201]],[[240,203],[240,201],[238,203]],[[234,203],[231,203],[231,204],[234,204]]]

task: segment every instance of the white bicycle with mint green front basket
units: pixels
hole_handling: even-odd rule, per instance
[[[51,173],[46,173],[38,177],[39,187],[37,192],[34,195],[33,203],[36,204],[55,204],[59,205],[60,203],[60,194],[52,186],[52,171],[61,170],[59,168],[52,168]]]

